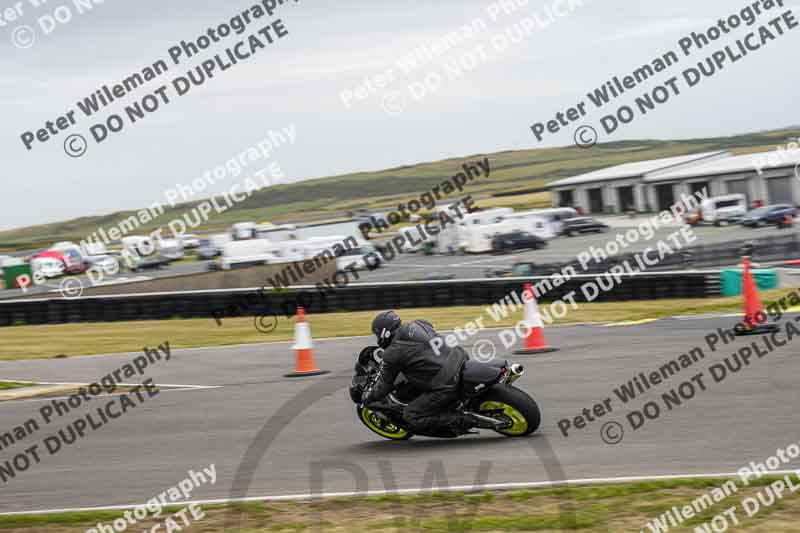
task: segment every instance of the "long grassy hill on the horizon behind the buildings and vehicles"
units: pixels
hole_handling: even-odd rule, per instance
[[[758,132],[732,137],[687,139],[679,141],[623,141],[599,144],[590,150],[576,147],[515,150],[494,154],[474,154],[442,161],[419,163],[378,172],[360,172],[278,185],[255,193],[228,211],[215,215],[195,232],[228,228],[233,222],[270,221],[304,222],[335,218],[356,208],[383,208],[406,202],[415,195],[458,172],[466,160],[489,157],[489,179],[473,182],[470,192],[481,207],[510,206],[516,209],[550,204],[547,193],[535,193],[548,182],[600,168],[676,155],[713,150],[748,153],[774,150],[785,145],[788,137],[800,134],[800,128]],[[231,183],[234,183],[231,181]],[[519,195],[493,196],[517,192]],[[191,210],[198,202],[178,205],[137,233],[144,234]],[[49,246],[55,241],[79,241],[98,228],[109,229],[135,211],[121,211],[97,217],[82,217],[64,222],[31,226],[0,232],[0,250],[21,250]]]

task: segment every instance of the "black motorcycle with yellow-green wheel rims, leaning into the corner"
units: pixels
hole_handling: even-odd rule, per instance
[[[410,384],[396,384],[394,391],[379,405],[361,405],[361,394],[375,379],[382,352],[377,346],[361,351],[350,385],[350,398],[356,404],[356,416],[370,431],[390,440],[407,440],[414,433],[403,419],[403,408],[419,395]],[[500,420],[502,424],[497,424],[494,431],[501,435],[530,435],[539,428],[541,412],[533,398],[514,386],[524,372],[522,365],[504,359],[488,363],[466,361],[459,376],[458,400],[453,408],[490,423]]]

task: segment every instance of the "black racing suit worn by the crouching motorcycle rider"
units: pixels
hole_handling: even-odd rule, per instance
[[[460,347],[439,348],[437,355],[430,344],[438,337],[433,326],[425,320],[415,320],[401,326],[392,344],[383,352],[380,370],[364,402],[385,398],[395,387],[402,372],[405,379],[422,394],[403,410],[403,418],[411,430],[420,435],[455,437],[470,428],[467,415],[453,409],[458,399],[458,380],[464,362],[469,359]]]

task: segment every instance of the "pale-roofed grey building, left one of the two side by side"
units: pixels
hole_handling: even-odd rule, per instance
[[[729,155],[726,151],[716,151],[636,161],[557,180],[547,188],[553,195],[554,207],[580,207],[586,213],[652,211],[658,209],[659,204],[648,190],[647,176],[665,171],[678,172]]]

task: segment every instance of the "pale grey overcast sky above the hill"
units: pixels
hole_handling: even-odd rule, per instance
[[[492,20],[492,2],[479,0],[300,0],[275,15],[283,19],[287,37],[217,73],[185,96],[173,98],[139,123],[126,123],[123,131],[98,145],[89,134],[89,127],[98,120],[83,116],[77,100],[157,59],[167,60],[171,46],[196,40],[209,26],[229,20],[255,0],[105,0],[82,15],[77,14],[73,0],[49,0],[38,9],[29,2],[23,0],[21,18],[3,19],[6,25],[0,26],[0,229],[163,201],[166,188],[191,182],[256,143],[270,129],[290,125],[296,129],[297,142],[276,150],[273,159],[293,178],[478,152],[569,145],[575,127],[584,122],[599,129],[605,110],[589,106],[585,121],[541,143],[529,127],[586,100],[586,92],[612,75],[629,74],[667,51],[678,50],[679,38],[705,31],[720,17],[746,5],[729,0],[583,0],[574,12],[500,50],[495,46],[499,41],[492,40],[495,35],[531,14],[546,19],[546,6],[552,6],[553,0],[532,0],[526,8],[500,14],[497,20]],[[72,20],[44,35],[39,19],[61,4],[69,6]],[[4,0],[0,7],[10,5],[11,0]],[[567,0],[556,5],[563,9]],[[800,18],[800,9],[795,12]],[[778,14],[762,17],[760,22]],[[410,74],[398,67],[398,60],[415,47],[437,41],[475,19],[487,26],[480,36]],[[242,37],[268,22],[261,19]],[[36,33],[30,48],[11,44],[14,28],[20,24]],[[23,41],[29,38],[19,31],[15,35]],[[745,34],[740,29],[735,35]],[[177,66],[170,63],[169,72],[104,109],[98,118],[121,113],[120,103],[138,101],[199,61],[224,53],[239,39],[228,37],[193,60]],[[726,37],[705,52],[732,41]],[[798,45],[800,28],[726,66],[615,134],[601,131],[601,141],[731,135],[797,124]],[[483,46],[482,53],[476,52],[478,46]],[[477,66],[461,78],[448,79],[444,63],[465,54],[477,57]],[[680,75],[705,56],[696,52],[682,57],[670,74]],[[345,107],[343,91],[389,68],[395,75],[388,88],[353,102],[350,109]],[[444,83],[435,93],[415,100],[409,84],[430,73],[442,76]],[[665,74],[658,78],[667,79]],[[633,96],[654,85],[632,91],[617,104],[632,103]],[[383,109],[387,92],[405,96],[401,113]],[[395,97],[388,101],[393,111],[403,103]],[[35,142],[30,151],[25,149],[20,140],[23,132],[35,132],[69,110],[76,110],[75,126],[47,142]],[[72,133],[89,138],[87,153],[81,158],[70,158],[63,151],[64,139]],[[220,192],[232,183],[234,178],[228,178],[206,193]]]

